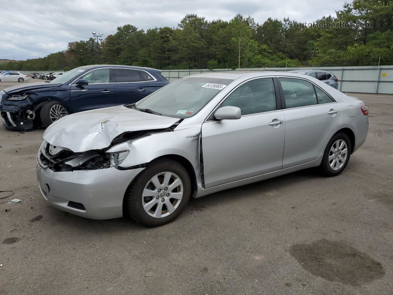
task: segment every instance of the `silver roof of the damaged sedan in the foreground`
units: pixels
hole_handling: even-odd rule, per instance
[[[257,70],[239,70],[239,71],[226,71],[226,72],[209,72],[202,74],[195,74],[186,76],[185,78],[217,78],[217,79],[230,79],[236,80],[241,77],[265,77],[265,76],[288,76],[288,77],[302,77],[303,74],[294,72],[278,72],[278,71],[257,71]]]

